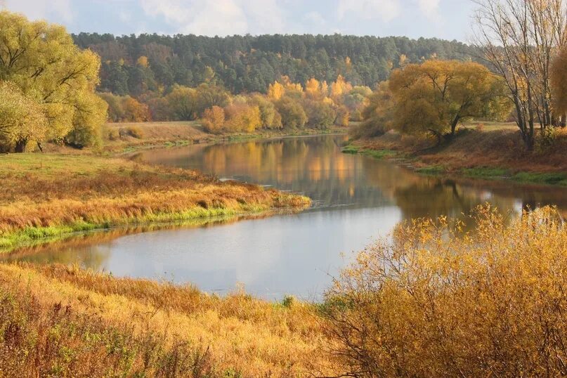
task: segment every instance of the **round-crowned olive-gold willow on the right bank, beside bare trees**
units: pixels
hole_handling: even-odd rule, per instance
[[[393,125],[403,133],[452,138],[471,118],[498,118],[509,111],[502,80],[478,63],[427,60],[392,72]]]

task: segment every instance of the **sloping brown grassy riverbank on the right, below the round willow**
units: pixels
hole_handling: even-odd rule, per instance
[[[351,142],[346,153],[395,159],[422,174],[509,179],[521,183],[567,185],[567,131],[559,130],[551,145],[533,152],[523,146],[510,124],[487,129],[467,128],[438,147],[434,138],[401,136],[390,131],[377,138]]]

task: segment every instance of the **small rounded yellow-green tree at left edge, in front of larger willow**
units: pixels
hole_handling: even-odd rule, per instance
[[[0,151],[23,152],[28,141],[43,141],[47,131],[41,105],[12,82],[0,82]]]

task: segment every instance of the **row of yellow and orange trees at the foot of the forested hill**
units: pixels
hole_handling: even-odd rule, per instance
[[[339,75],[334,82],[308,79],[305,86],[287,76],[269,84],[266,94],[233,96],[222,86],[206,82],[195,88],[174,84],[160,95],[147,92],[138,98],[100,93],[113,122],[190,121],[200,119],[211,133],[252,132],[256,129],[327,129],[360,121],[367,86],[353,86]]]

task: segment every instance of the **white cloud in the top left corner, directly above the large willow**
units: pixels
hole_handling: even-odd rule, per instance
[[[23,13],[32,20],[46,19],[51,15],[63,22],[73,19],[70,0],[6,0],[5,3],[8,11]]]

